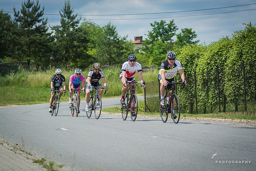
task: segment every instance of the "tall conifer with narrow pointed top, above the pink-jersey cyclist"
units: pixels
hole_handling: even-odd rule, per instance
[[[82,30],[78,29],[81,17],[76,19],[77,14],[72,15],[73,12],[70,1],[65,1],[63,9],[59,11],[60,26],[51,26],[55,31],[55,50],[52,61],[55,64],[64,62],[69,66],[81,67],[88,56],[85,53],[87,40]]]

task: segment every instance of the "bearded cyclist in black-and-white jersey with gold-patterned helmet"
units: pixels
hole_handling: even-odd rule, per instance
[[[93,69],[88,73],[88,77],[86,79],[87,84],[86,84],[86,95],[85,95],[85,100],[86,100],[85,110],[87,112],[89,111],[90,92],[93,91],[93,86],[102,87],[102,85],[99,83],[100,79],[102,79],[103,85],[105,86],[106,91],[108,91],[108,86],[107,86],[104,73],[102,72],[102,70],[100,70],[100,64],[94,63]],[[103,91],[99,89],[100,97],[102,97],[102,93]],[[100,105],[99,101],[97,101],[96,107],[98,107],[99,105]]]

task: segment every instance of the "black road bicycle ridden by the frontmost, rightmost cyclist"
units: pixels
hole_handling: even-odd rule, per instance
[[[181,89],[184,89],[185,82],[168,82],[168,84],[171,84],[172,87],[169,90],[167,90],[167,86],[165,87],[164,98],[166,98],[168,96],[169,92],[171,92],[171,91],[172,91],[172,95],[171,95],[171,97],[169,97],[169,100],[166,100],[166,102],[164,102],[164,105],[161,105],[161,103],[160,103],[161,119],[165,123],[168,118],[168,113],[171,113],[173,122],[178,123],[180,120],[181,109],[180,109],[180,101],[179,101],[178,95],[175,94],[174,90],[175,90],[176,84],[183,84]]]

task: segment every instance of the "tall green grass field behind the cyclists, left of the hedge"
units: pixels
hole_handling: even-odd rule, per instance
[[[50,100],[50,81],[56,68],[50,68],[45,71],[26,71],[19,70],[17,73],[8,76],[0,76],[0,106],[26,105],[49,103]],[[69,77],[74,70],[65,70],[61,68],[62,74],[66,78],[66,91],[68,92]],[[109,87],[108,93],[103,98],[120,97],[123,84],[120,81],[120,68],[108,68],[103,70],[105,79]],[[87,78],[90,69],[83,70],[82,74]],[[153,74],[154,73],[154,74]],[[155,80],[158,70],[147,70],[143,73],[145,81]],[[136,74],[136,80],[139,80]],[[100,80],[102,84],[102,81]],[[103,84],[102,84],[103,85]],[[142,95],[143,89],[137,89],[136,94]],[[61,101],[68,101],[69,95],[61,98]],[[85,100],[85,96],[81,96]]]

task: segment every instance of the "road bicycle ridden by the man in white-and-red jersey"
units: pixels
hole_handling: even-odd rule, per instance
[[[125,104],[121,105],[121,113],[122,113],[123,120],[126,120],[128,112],[130,111],[131,120],[135,121],[136,117],[137,117],[137,113],[138,113],[138,98],[137,98],[137,96],[135,95],[135,92],[134,92],[134,84],[143,83],[145,85],[145,81],[141,82],[141,81],[128,81],[128,80],[126,80],[126,83],[128,83],[128,82],[132,83],[132,87],[127,89],[126,95],[124,97]],[[137,87],[137,84],[136,84],[136,87]],[[130,98],[129,98],[130,89],[132,89],[132,93],[131,93]],[[135,112],[135,116],[133,116],[133,111]]]

